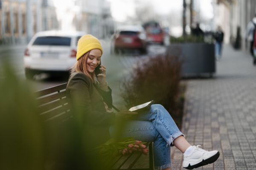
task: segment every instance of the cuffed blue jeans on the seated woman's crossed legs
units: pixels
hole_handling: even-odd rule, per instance
[[[114,129],[114,126],[110,127],[112,138]],[[164,169],[172,166],[170,146],[181,135],[168,111],[162,105],[151,105],[151,108],[134,115],[127,122],[122,138],[135,136],[138,141],[154,142],[154,168]]]

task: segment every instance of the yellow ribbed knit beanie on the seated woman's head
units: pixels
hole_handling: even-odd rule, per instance
[[[93,49],[99,49],[100,51],[102,51],[103,54],[102,46],[99,40],[96,37],[93,37],[92,35],[84,35],[79,39],[77,43],[76,60],[78,60],[85,53]]]

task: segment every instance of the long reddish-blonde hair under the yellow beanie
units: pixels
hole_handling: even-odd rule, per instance
[[[71,76],[73,73],[80,72],[80,73],[85,74],[85,75],[86,75],[87,77],[89,77],[94,83],[96,83],[96,80],[95,80],[95,71],[93,71],[93,73],[90,74],[89,71],[88,71],[88,69],[87,69],[87,60],[88,60],[89,54],[90,54],[90,51],[88,51],[88,52],[85,53],[82,57],[80,57],[80,58],[78,59],[78,61],[76,62],[76,64],[71,67],[70,76]]]

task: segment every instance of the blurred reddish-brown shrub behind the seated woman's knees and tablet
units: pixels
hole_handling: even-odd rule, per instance
[[[167,110],[174,108],[179,94],[182,62],[176,56],[159,55],[140,62],[123,82],[121,94],[127,108],[154,100]]]

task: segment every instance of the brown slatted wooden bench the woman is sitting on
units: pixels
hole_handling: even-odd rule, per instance
[[[40,117],[46,127],[50,126],[50,128],[54,128],[54,125],[68,121],[73,117],[73,115],[70,114],[70,105],[67,103],[66,87],[67,83],[64,83],[35,92]],[[149,168],[140,170],[153,170],[152,142],[148,142],[146,146],[149,146]],[[126,156],[118,155],[111,157],[105,161],[104,166],[106,169],[111,170],[131,170],[141,155],[141,152],[134,152]]]

